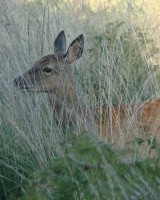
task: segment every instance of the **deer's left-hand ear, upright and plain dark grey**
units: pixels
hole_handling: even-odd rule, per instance
[[[54,41],[54,53],[58,56],[64,55],[66,52],[66,36],[61,31]]]

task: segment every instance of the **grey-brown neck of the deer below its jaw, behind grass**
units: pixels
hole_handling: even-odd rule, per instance
[[[82,106],[78,98],[75,81],[73,78],[68,80],[67,84],[62,84],[63,87],[59,91],[50,91],[48,93],[56,121],[65,125],[73,124],[79,118],[83,118]]]

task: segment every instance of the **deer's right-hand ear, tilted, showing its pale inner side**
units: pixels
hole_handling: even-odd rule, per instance
[[[84,36],[78,36],[69,46],[65,55],[68,64],[71,64],[75,60],[79,59],[83,53]]]

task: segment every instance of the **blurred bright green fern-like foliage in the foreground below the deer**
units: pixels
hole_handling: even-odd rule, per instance
[[[63,158],[35,173],[22,200],[159,199],[158,160],[123,163],[112,147],[81,135]]]

